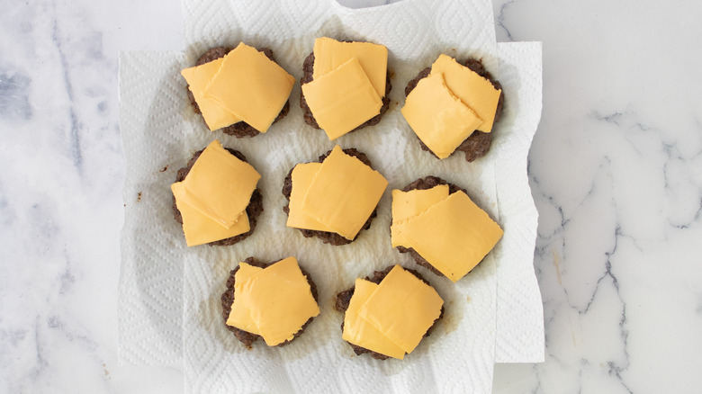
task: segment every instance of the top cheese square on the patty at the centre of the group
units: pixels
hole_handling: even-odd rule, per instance
[[[378,205],[388,181],[337,145],[324,159],[302,201],[302,212],[354,239]]]

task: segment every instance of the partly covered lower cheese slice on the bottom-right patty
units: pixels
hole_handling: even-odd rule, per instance
[[[365,301],[373,294],[378,285],[374,282],[356,279],[356,289],[354,295],[348,303],[347,313],[344,316],[344,332],[342,338],[356,346],[365,347],[375,353],[385,354],[389,357],[402,360],[405,358],[405,351],[398,345],[392,343],[387,336],[378,331],[368,323],[365,318],[358,316],[358,310],[365,304]]]

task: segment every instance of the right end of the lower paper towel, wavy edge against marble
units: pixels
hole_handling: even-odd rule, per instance
[[[527,155],[541,119],[541,43],[499,44],[500,83],[509,104],[495,133],[500,225],[505,237],[492,252],[497,263],[496,363],[544,361],[544,309],[534,246],[538,213],[527,178]]]

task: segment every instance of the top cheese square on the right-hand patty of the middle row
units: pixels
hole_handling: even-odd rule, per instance
[[[502,237],[502,228],[463,192],[398,225],[397,231],[453,282],[479,264]]]

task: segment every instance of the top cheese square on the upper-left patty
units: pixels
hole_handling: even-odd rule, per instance
[[[294,83],[295,78],[283,67],[242,42],[223,58],[204,95],[265,133],[283,109]]]

